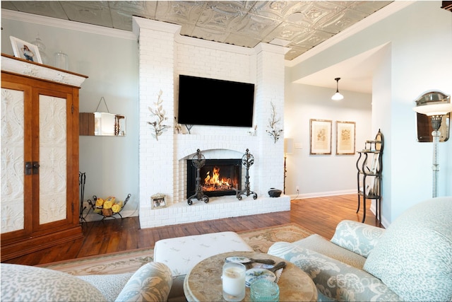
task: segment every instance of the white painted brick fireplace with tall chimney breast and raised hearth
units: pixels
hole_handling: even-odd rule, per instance
[[[281,120],[279,127],[283,129],[286,49],[263,43],[253,49],[225,45],[184,37],[179,35],[179,30],[179,25],[133,17],[133,32],[139,42],[141,228],[290,210],[290,197],[268,197],[270,187],[283,190],[284,147],[283,137],[275,143],[266,132],[271,103]],[[179,74],[254,83],[256,135],[251,136],[249,128],[196,125],[191,134],[176,134],[174,117],[177,116]],[[148,124],[154,120],[148,108],[155,108],[160,90],[162,108],[168,118],[165,124],[171,128],[157,141],[152,136],[153,127]],[[194,199],[192,205],[187,204],[186,160],[193,158],[197,149],[206,159],[242,158],[249,149],[254,156],[254,165],[249,169],[250,189],[258,198],[242,195],[239,200],[230,195],[210,197],[208,203]],[[242,188],[245,173],[242,167]],[[166,195],[167,207],[151,208],[150,197],[157,193]]]

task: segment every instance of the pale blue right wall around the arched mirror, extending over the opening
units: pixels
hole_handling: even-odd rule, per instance
[[[316,54],[290,70],[292,81],[386,45],[376,71],[372,131],[385,135],[383,219],[432,197],[432,144],[415,139],[414,100],[425,91],[452,94],[452,18],[441,1],[410,6]],[[439,146],[439,196],[452,195],[452,142]],[[302,173],[302,172],[300,172]]]

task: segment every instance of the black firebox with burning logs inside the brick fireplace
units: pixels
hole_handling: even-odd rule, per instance
[[[186,164],[186,198],[189,198],[196,192],[196,168],[191,159]],[[208,197],[234,195],[242,190],[241,159],[206,159],[199,175],[203,194]]]

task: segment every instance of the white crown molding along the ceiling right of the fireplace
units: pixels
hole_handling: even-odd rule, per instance
[[[326,50],[329,47],[338,44],[338,42],[347,39],[347,37],[351,37],[352,35],[359,33],[361,30],[368,28],[370,25],[373,25],[383,20],[384,18],[391,16],[393,13],[396,13],[401,9],[410,6],[413,3],[415,3],[415,1],[393,1],[391,4],[388,4],[387,6],[381,8],[379,11],[376,11],[367,18],[364,18],[362,21],[359,21],[358,23],[355,23],[354,25],[350,26],[350,28],[346,28],[337,35],[330,37],[325,42],[322,42],[321,44],[311,48],[311,50],[304,52],[304,54],[301,54],[295,59],[292,59],[292,61],[286,60],[285,66],[286,67],[296,66],[297,64],[300,64],[304,60],[309,59],[310,57],[314,57],[316,54],[323,52],[323,50]]]

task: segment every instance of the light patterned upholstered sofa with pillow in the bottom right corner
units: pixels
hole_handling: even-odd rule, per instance
[[[278,242],[268,253],[307,272],[320,301],[452,301],[452,197],[420,202],[386,230],[341,221],[331,240]]]

